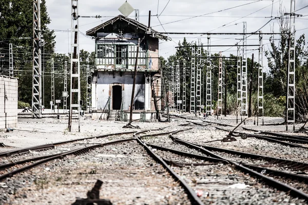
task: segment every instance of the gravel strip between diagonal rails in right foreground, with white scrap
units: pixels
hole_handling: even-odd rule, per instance
[[[160,145],[183,152],[204,155],[186,146],[173,143],[169,138],[147,138],[153,145]],[[287,196],[286,193],[269,188],[257,179],[236,170],[233,166],[180,156],[156,150],[155,152],[170,161],[185,163],[184,167],[174,165],[172,169],[182,176],[194,190],[201,190],[204,204],[305,204],[301,199]],[[188,166],[187,164],[205,163],[207,166]],[[299,187],[298,184],[295,184]]]

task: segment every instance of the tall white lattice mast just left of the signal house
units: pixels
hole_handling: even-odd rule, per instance
[[[78,120],[78,131],[80,132],[79,7],[78,0],[72,0],[71,3],[70,111],[68,130],[71,131],[73,110],[77,110],[76,117]]]

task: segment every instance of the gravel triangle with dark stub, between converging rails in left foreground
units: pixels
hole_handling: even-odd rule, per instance
[[[190,204],[183,189],[136,142],[98,148],[48,162],[9,178],[0,188],[8,204],[71,204],[95,181],[113,204]]]

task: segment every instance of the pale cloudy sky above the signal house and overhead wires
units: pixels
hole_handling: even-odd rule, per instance
[[[114,16],[121,14],[118,10],[126,0],[79,0],[80,16],[101,15],[101,18],[79,18],[80,31],[86,33]],[[279,8],[283,13],[290,13],[291,0],[127,0],[134,8],[139,9],[140,22],[148,24],[148,13],[151,10],[151,27],[159,32],[232,32],[242,33],[243,22],[247,24],[247,32],[255,32],[260,28],[263,33],[279,32]],[[58,53],[70,51],[71,1],[47,0],[47,11],[51,19],[50,29],[61,30],[55,32]],[[296,0],[296,10],[308,6],[307,0]],[[302,33],[308,35],[308,7],[296,12],[302,17],[296,18],[296,37]],[[198,17],[195,17],[198,16]],[[134,12],[130,14],[134,18]],[[189,18],[189,19],[187,19]],[[272,20],[271,20],[272,19]],[[271,20],[269,23],[268,21]],[[267,24],[266,24],[267,23]],[[188,42],[198,38],[207,45],[207,36],[201,35],[169,35],[172,40],[160,42],[159,54],[165,58],[175,54],[179,40],[186,37]],[[263,36],[263,49],[269,49],[269,35]],[[211,45],[234,45],[240,41],[239,35],[211,35]],[[275,39],[279,35],[275,36]],[[278,42],[278,41],[277,41]],[[247,38],[247,45],[259,44],[258,35]],[[94,51],[94,40],[80,35],[80,49]],[[247,56],[254,53],[258,56],[258,47],[247,47]],[[223,51],[223,55],[237,54],[236,47],[212,47],[211,53]],[[256,60],[256,59],[255,59]],[[267,68],[266,63],[264,65]]]

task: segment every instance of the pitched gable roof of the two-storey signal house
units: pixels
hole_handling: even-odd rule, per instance
[[[164,39],[164,40],[167,40],[168,39],[168,36],[165,36],[163,34],[160,34],[158,31],[154,30],[154,29],[151,29],[151,31],[149,32],[149,28],[140,23],[140,22],[137,22],[137,20],[134,20],[134,19],[131,19],[131,18],[128,18],[126,16],[123,16],[123,15],[118,15],[118,16],[115,16],[114,18],[110,19],[110,20],[107,20],[107,22],[99,25],[99,26],[96,26],[90,30],[88,30],[86,32],[86,35],[89,35],[89,36],[95,36],[95,33],[97,33],[97,31],[99,31],[100,29],[104,29],[104,27],[108,26],[108,25],[112,25],[114,22],[117,22],[118,20],[124,20],[126,21],[128,24],[131,24],[132,26],[135,26],[139,29],[142,29],[145,31],[145,33],[147,34],[153,34],[153,37],[157,37],[157,38],[160,38],[160,39]]]

